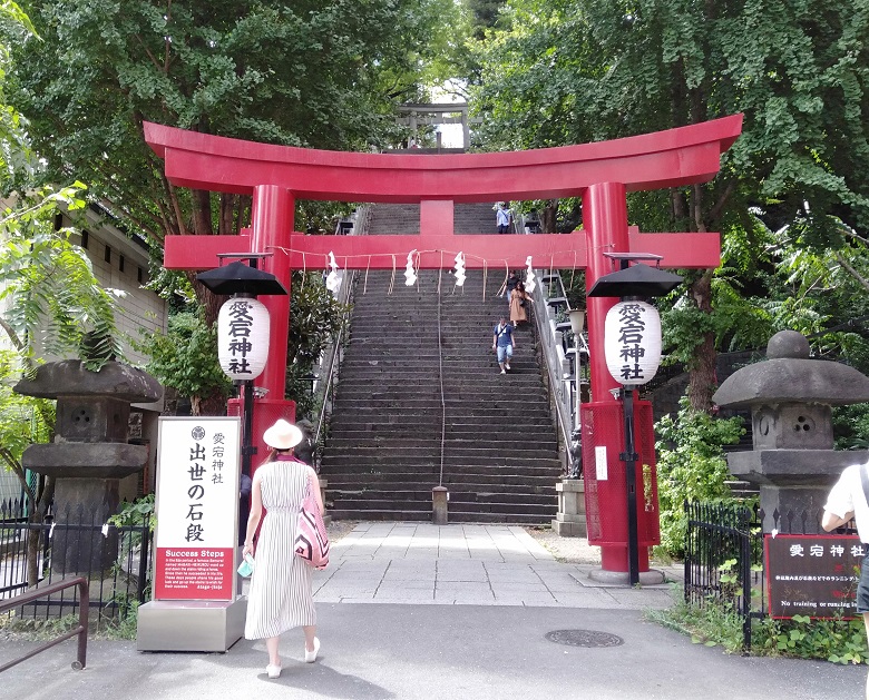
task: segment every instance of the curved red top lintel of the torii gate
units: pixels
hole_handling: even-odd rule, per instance
[[[596,183],[627,191],[712,179],[742,115],[613,141],[496,154],[358,154],[243,141],[145,122],[175,185],[252,194],[277,185],[301,199],[457,203],[578,196]]]

